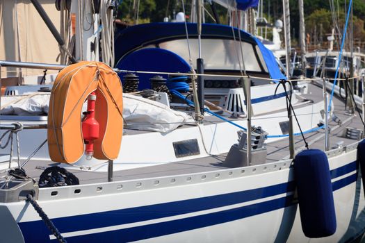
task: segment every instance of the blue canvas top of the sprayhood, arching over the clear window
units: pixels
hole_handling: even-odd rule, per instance
[[[189,38],[197,38],[197,24],[186,23]],[[234,34],[233,34],[234,32]],[[235,40],[238,37],[238,28],[222,24],[202,24],[202,39],[219,38]],[[115,33],[115,60],[120,62],[124,57],[137,49],[150,44],[159,44],[167,40],[186,38],[185,23],[150,23],[139,24]],[[270,78],[285,79],[273,53],[268,50],[257,38],[241,31],[241,40],[259,47],[263,60],[268,67]]]

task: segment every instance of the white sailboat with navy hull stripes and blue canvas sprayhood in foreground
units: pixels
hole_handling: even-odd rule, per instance
[[[60,70],[40,114],[1,97],[0,242],[362,237],[364,115],[325,82],[291,85],[231,26],[143,24],[116,43],[115,68],[0,61]]]

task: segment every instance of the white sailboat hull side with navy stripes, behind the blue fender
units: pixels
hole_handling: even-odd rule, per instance
[[[67,242],[343,242],[348,240],[347,231],[356,226],[353,237],[365,228],[364,221],[359,223],[365,203],[363,190],[356,190],[361,181],[356,179],[355,148],[348,146],[348,152],[329,158],[337,228],[334,235],[319,239],[302,233],[289,160],[184,176],[43,188],[38,203]],[[81,193],[74,194],[76,189]],[[57,196],[51,196],[54,191]],[[0,204],[3,207],[26,242],[55,240],[29,203]],[[7,235],[4,242],[14,242],[14,234],[1,235]]]

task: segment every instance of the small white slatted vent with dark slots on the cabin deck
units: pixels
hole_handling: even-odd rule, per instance
[[[226,110],[233,112],[234,115],[245,114],[245,95],[243,94],[243,88],[238,87],[229,90],[225,108]]]

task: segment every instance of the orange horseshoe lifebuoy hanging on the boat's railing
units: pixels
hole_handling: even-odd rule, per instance
[[[123,133],[120,78],[102,62],[78,62],[62,69],[52,87],[47,131],[51,160],[73,163],[83,155],[81,110],[91,92],[97,96],[95,119],[99,122],[93,156],[117,158]]]

